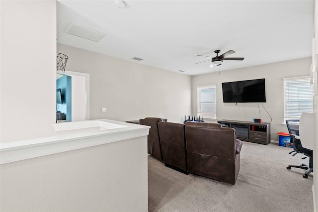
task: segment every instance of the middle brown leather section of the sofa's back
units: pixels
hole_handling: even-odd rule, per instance
[[[160,121],[158,122],[158,129],[164,164],[188,174],[184,124]]]

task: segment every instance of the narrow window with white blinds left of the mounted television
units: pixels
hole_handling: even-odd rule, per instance
[[[198,115],[204,118],[216,118],[216,86],[199,86]]]

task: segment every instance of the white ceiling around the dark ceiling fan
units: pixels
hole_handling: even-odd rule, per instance
[[[58,0],[57,42],[183,74],[198,75],[310,57],[314,0]],[[71,23],[106,34],[94,42]],[[197,62],[214,50],[243,61]],[[135,61],[131,58],[143,58]],[[69,58],[70,60],[72,58]],[[179,72],[180,73],[180,72]]]

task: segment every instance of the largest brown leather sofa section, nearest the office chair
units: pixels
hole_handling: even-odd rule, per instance
[[[219,123],[185,123],[188,171],[234,185],[242,141]]]

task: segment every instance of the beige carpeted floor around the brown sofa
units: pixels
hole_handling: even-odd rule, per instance
[[[313,173],[288,165],[308,164],[292,148],[243,142],[235,186],[185,175],[148,156],[149,212],[311,212]]]

